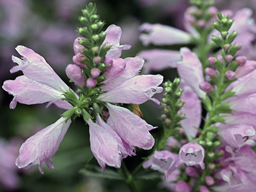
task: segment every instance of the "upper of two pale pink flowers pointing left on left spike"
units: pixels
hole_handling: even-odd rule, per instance
[[[23,60],[12,56],[13,62],[18,63],[18,66],[13,67],[10,70],[11,73],[21,70],[27,78],[35,80],[40,84],[52,87],[62,93],[69,90],[68,86],[54,72],[52,67],[46,63],[42,56],[22,45],[18,45],[16,50],[23,56]]]

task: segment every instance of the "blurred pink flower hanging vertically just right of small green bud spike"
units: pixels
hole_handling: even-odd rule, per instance
[[[201,123],[202,105],[197,94],[190,86],[184,86],[182,89],[184,91],[180,99],[182,99],[185,104],[180,112],[185,114],[186,118],[180,121],[180,124],[190,140],[191,138],[195,138],[198,132],[196,127],[199,127]]]

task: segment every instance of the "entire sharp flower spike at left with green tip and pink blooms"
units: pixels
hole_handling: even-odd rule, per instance
[[[163,76],[139,76],[144,63],[141,57],[120,58],[122,50],[130,49],[130,45],[119,44],[121,28],[118,26],[111,25],[103,32],[104,22],[96,11],[92,3],[82,10],[79,19],[85,26],[78,28],[78,33],[84,37],[74,41],[75,65],[66,68],[67,76],[77,86],[76,92],[42,56],[27,47],[16,47],[22,58],[13,56],[18,66],[11,73],[22,71],[24,75],[7,80],[2,86],[14,97],[10,108],[14,109],[17,102],[27,105],[49,102],[48,105],[67,110],[58,121],[22,144],[16,160],[19,168],[38,164],[42,174],[42,162],[54,168],[50,158],[58,150],[71,122],[79,116],[89,125],[91,151],[103,172],[106,164],[120,168],[123,158],[135,155],[135,147],[151,149],[154,145],[149,132],[154,127],[120,105],[136,107],[148,100],[159,104],[152,96],[163,91],[158,86]]]

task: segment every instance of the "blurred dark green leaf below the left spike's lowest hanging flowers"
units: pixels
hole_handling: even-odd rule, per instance
[[[87,168],[82,168],[78,171],[78,173],[88,176],[88,177],[98,177],[104,179],[115,179],[115,180],[124,180],[122,175],[119,175],[117,172],[111,169],[105,169],[105,175],[103,175],[103,171],[99,168],[99,166],[88,166]]]

